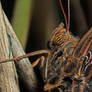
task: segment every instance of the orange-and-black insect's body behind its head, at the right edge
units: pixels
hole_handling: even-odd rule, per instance
[[[65,61],[63,72],[66,76],[61,83],[63,92],[92,92],[92,29],[82,37],[72,56]]]

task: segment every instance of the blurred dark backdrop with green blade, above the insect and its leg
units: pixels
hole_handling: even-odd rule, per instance
[[[58,0],[1,0],[25,51],[47,49],[53,30],[64,21]],[[62,0],[67,15],[67,0]],[[92,26],[92,0],[71,0],[70,31],[81,37]]]

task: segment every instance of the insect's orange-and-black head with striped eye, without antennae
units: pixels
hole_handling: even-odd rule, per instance
[[[66,58],[72,56],[77,43],[78,40],[69,32],[66,32],[62,25],[59,25],[49,42],[50,54],[45,64],[44,74],[45,90],[60,86],[64,82],[64,77],[72,75],[74,70],[71,73],[65,73],[64,70],[68,62]]]

